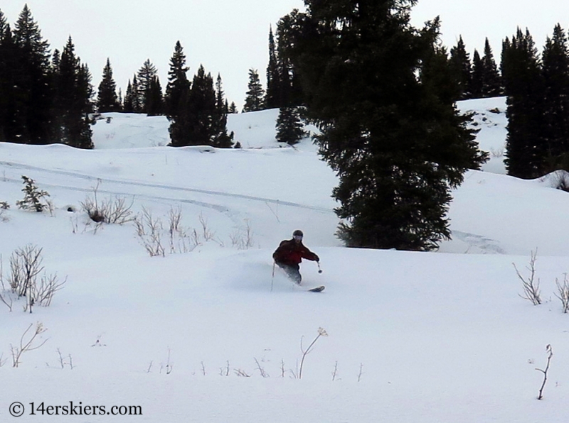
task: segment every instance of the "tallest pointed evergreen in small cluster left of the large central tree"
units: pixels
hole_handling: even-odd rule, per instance
[[[168,84],[166,85],[166,96],[164,103],[166,106],[166,116],[168,119],[176,119],[181,110],[186,108],[186,102],[190,90],[186,67],[186,55],[184,48],[179,41],[176,41],[174,54],[170,59],[170,70],[168,71]],[[172,140],[174,142],[174,140]]]

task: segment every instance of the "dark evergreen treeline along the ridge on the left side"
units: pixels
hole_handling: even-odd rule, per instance
[[[95,94],[90,70],[75,55],[71,37],[61,52],[50,53],[27,5],[14,30],[0,11],[0,141],[93,148],[93,114],[124,111],[167,116],[170,145],[231,147],[227,114],[236,107],[228,105],[220,75],[214,83],[203,66],[192,80],[186,72],[183,48],[176,43],[164,94],[156,67],[147,60],[123,98],[107,59]]]

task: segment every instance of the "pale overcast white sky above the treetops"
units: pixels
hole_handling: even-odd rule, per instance
[[[184,47],[190,78],[203,64],[223,79],[228,100],[243,105],[248,70],[265,84],[268,32],[279,18],[304,9],[303,0],[4,0],[0,10],[14,26],[24,4],[53,49],[63,49],[69,35],[75,52],[89,65],[97,88],[110,58],[117,87],[126,89],[145,60],[159,70],[166,87],[169,60],[176,40]],[[449,48],[462,35],[469,53],[482,53],[488,37],[499,61],[501,40],[528,27],[538,48],[555,23],[569,26],[569,0],[419,0],[413,24],[442,19],[442,41]]]

